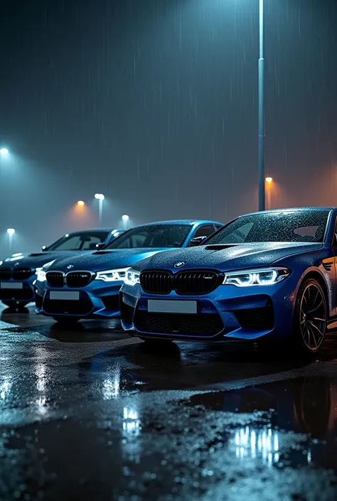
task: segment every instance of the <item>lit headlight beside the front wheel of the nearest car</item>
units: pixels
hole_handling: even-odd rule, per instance
[[[237,287],[273,285],[287,279],[290,274],[291,271],[287,268],[247,269],[226,273],[223,284]]]

